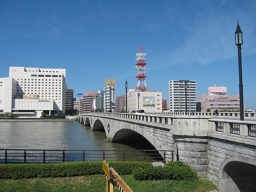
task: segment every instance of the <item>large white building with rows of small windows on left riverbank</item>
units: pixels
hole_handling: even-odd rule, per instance
[[[65,113],[66,69],[10,67],[0,78],[0,112],[20,117]]]

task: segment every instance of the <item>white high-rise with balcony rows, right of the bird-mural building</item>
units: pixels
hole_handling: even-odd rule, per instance
[[[185,83],[187,83],[187,109],[196,112],[196,81],[169,81],[169,110],[184,112],[186,110]]]

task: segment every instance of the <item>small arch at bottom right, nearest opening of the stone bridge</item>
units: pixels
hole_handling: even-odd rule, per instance
[[[242,157],[229,157],[220,166],[219,188],[241,192],[256,191],[256,161]]]

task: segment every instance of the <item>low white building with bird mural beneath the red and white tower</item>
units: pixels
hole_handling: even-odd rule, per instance
[[[129,89],[127,93],[127,112],[143,109],[145,113],[162,112],[162,92],[135,91]],[[140,97],[138,98],[138,93]]]

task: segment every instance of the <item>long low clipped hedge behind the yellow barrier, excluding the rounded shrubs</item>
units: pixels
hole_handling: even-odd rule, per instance
[[[131,174],[139,167],[153,167],[148,162],[107,162],[118,174]],[[66,177],[103,173],[102,162],[72,162],[52,164],[0,164],[0,178]]]

